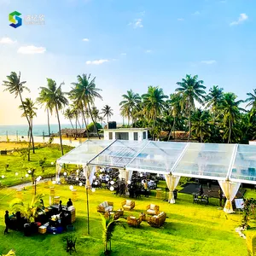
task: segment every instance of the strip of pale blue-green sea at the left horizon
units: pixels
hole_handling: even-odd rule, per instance
[[[61,125],[61,129],[72,128],[70,124]],[[58,125],[50,125],[50,132],[57,133],[59,131]],[[0,125],[0,137],[8,136],[23,136],[27,137],[28,125]],[[33,125],[33,136],[42,137],[43,134],[48,136],[48,125]]]

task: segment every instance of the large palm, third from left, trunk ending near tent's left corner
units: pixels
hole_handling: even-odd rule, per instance
[[[59,111],[68,104],[67,98],[64,96],[64,93],[61,90],[61,86],[64,83],[61,83],[57,86],[56,82],[53,79],[47,79],[48,87],[40,87],[41,90],[44,90],[46,104],[50,107],[50,111],[52,112],[55,109],[55,113],[58,119],[59,125],[59,135],[60,135],[60,143],[61,143],[61,154],[64,154],[63,145],[62,145],[62,137],[61,137],[61,121],[59,116]]]

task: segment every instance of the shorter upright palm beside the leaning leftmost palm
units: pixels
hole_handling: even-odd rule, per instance
[[[33,148],[33,154],[35,154],[35,145],[34,145],[34,138],[32,136],[32,130],[33,130],[33,118],[37,116],[36,111],[38,108],[35,107],[35,102],[32,102],[31,98],[26,98],[25,102],[23,102],[23,105],[20,105],[19,108],[21,110],[24,110],[22,113],[22,117],[25,117],[26,115],[29,118],[29,134],[30,134],[30,141],[32,140],[32,148]]]

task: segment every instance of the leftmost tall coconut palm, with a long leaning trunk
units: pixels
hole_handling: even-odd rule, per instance
[[[6,86],[7,88],[4,90],[8,90],[10,94],[15,94],[15,98],[17,96],[20,96],[20,102],[21,105],[23,107],[23,111],[25,113],[26,116],[26,121],[28,124],[28,127],[30,127],[30,123],[29,123],[29,117],[26,114],[26,110],[25,110],[25,106],[23,104],[23,100],[22,100],[22,93],[24,90],[27,90],[28,92],[30,91],[24,84],[26,84],[26,81],[20,81],[20,72],[19,75],[17,75],[17,73],[15,72],[11,72],[9,76],[7,76],[8,80],[3,81],[3,86]],[[31,134],[32,136],[32,134]],[[30,150],[31,147],[31,143],[28,143],[28,150]],[[28,154],[28,160],[30,160],[30,154]]]

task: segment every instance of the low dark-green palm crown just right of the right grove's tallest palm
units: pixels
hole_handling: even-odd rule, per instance
[[[204,141],[205,137],[211,136],[210,114],[206,110],[196,109],[191,115],[191,131],[195,131],[195,137],[200,137],[200,142]]]

